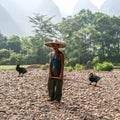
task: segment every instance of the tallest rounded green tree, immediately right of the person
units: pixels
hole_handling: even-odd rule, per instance
[[[94,15],[89,10],[82,10],[74,17],[68,17],[58,24],[63,39],[67,44],[65,49],[66,64],[74,66],[76,63],[85,64],[88,58],[92,59],[89,46],[92,41]],[[92,33],[91,33],[92,31]],[[88,56],[88,58],[86,58]]]

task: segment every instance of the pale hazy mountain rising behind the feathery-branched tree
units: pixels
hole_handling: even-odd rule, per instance
[[[35,0],[33,3],[30,3],[29,0],[3,0],[1,4],[9,11],[11,17],[24,32],[22,36],[32,35],[32,23],[29,22],[28,17],[32,17],[33,13],[40,13],[41,15],[44,14],[50,17],[54,16],[54,22],[60,22],[62,20],[59,8],[52,0]],[[2,11],[0,12],[2,13]],[[4,20],[4,17],[2,19]],[[9,22],[7,24],[9,24]],[[10,26],[9,28],[11,29]]]

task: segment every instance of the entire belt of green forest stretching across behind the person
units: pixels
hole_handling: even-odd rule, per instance
[[[39,14],[29,17],[33,36],[6,37],[0,33],[0,64],[14,65],[16,60],[22,64],[46,64],[52,49],[44,43],[53,39],[67,45],[61,49],[66,66],[87,65],[95,57],[99,57],[99,62],[120,62],[120,16],[81,10],[57,24],[53,24],[52,19]]]

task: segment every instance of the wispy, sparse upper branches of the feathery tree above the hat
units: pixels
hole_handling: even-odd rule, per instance
[[[52,24],[52,18],[46,15],[34,14],[34,17],[29,17],[30,22],[34,27],[36,36],[41,40],[57,36],[55,26]]]

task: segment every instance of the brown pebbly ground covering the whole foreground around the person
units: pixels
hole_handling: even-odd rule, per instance
[[[120,120],[120,71],[95,72],[97,87],[89,85],[91,70],[64,72],[60,104],[47,101],[48,70],[0,71],[0,120]]]

